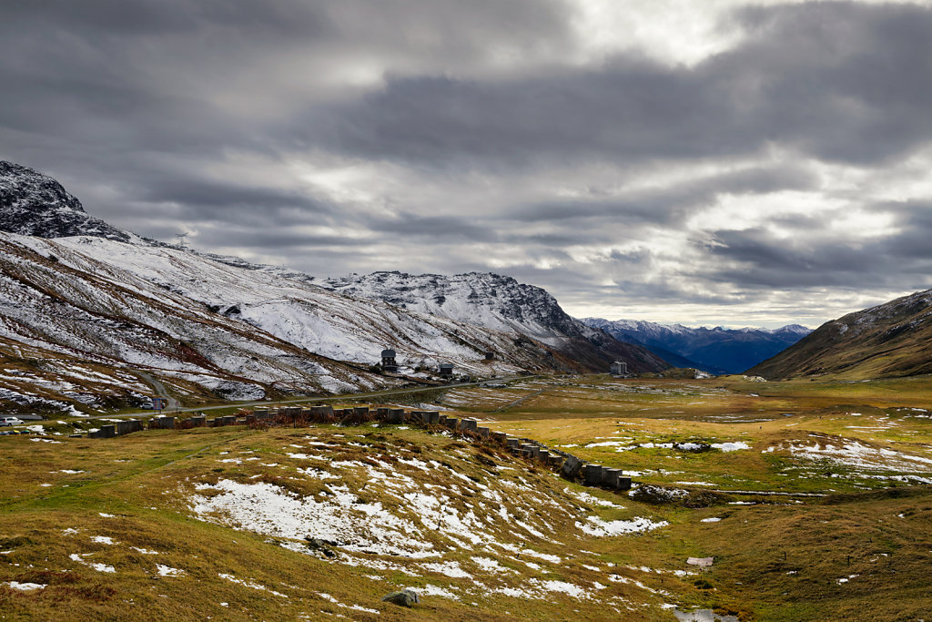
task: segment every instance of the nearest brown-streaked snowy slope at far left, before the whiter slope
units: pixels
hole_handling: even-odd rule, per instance
[[[142,369],[179,385],[182,393],[196,386],[201,394],[233,399],[392,383],[316,356],[81,252],[82,247],[93,251],[94,242],[149,248],[102,238],[51,241],[0,233],[5,370],[23,361],[38,361],[34,367],[59,375],[75,361],[101,366],[111,376],[115,369]],[[36,384],[42,384],[41,376],[35,375]],[[14,391],[11,384],[0,380],[7,391]],[[23,382],[17,386],[25,388]]]

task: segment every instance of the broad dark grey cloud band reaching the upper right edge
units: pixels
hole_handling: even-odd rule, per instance
[[[741,15],[753,37],[693,68],[617,57],[509,81],[393,79],[312,129],[371,158],[474,166],[701,159],[771,142],[870,164],[932,138],[932,10],[818,3]]]

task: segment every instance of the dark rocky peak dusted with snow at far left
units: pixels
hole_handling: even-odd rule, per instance
[[[0,230],[40,238],[89,235],[118,242],[134,236],[84,211],[55,179],[0,160]]]

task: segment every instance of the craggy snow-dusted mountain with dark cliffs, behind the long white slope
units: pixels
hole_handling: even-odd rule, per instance
[[[626,361],[637,371],[668,367],[646,349],[621,343],[570,317],[540,287],[518,283],[508,276],[481,272],[413,275],[392,271],[353,274],[322,284],[341,294],[524,335],[595,371],[606,370],[613,360]]]

